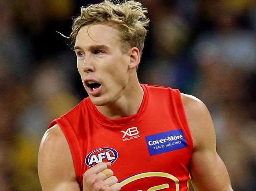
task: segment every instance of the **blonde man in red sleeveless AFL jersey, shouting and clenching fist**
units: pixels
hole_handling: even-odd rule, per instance
[[[89,94],[54,120],[38,159],[43,191],[232,191],[206,106],[177,89],[140,84],[149,20],[139,2],[105,0],[74,20]]]

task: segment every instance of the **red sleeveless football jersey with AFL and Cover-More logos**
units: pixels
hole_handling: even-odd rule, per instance
[[[187,191],[193,141],[180,92],[141,84],[137,114],[104,117],[85,98],[54,120],[65,134],[82,190],[83,174],[98,162],[111,162],[121,191]]]

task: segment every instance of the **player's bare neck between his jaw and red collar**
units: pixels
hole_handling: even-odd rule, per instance
[[[126,93],[118,98],[115,103],[110,103],[106,106],[96,106],[98,111],[109,119],[135,115],[141,106],[144,91],[139,82],[124,91]]]

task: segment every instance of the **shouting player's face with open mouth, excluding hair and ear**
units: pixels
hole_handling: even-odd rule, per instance
[[[95,24],[82,27],[76,36],[77,67],[83,85],[96,106],[113,104],[129,81],[129,54],[121,51],[119,31]]]

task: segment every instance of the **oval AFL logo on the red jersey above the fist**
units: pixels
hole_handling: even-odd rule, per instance
[[[85,158],[85,164],[89,167],[93,167],[99,162],[110,162],[112,164],[117,158],[118,153],[115,149],[105,147],[91,151]]]

